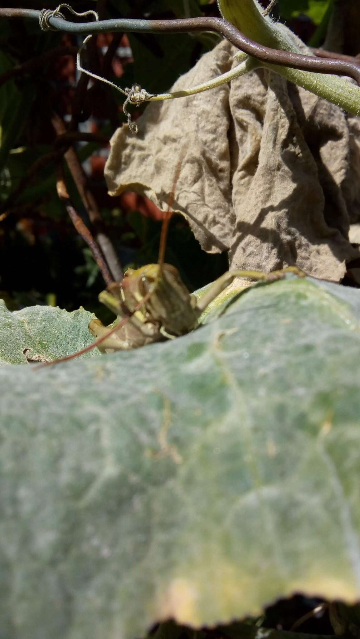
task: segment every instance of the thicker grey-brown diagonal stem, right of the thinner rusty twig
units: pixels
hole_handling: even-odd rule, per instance
[[[58,114],[52,114],[51,122],[56,131],[56,134],[63,135],[67,132],[65,123],[63,119],[58,116]],[[71,146],[67,151],[65,151],[64,158],[67,162],[70,173],[72,174],[72,178],[74,179],[74,182],[77,186],[77,190],[79,191],[82,203],[84,204],[84,207],[88,212],[91,224],[93,224],[95,228],[95,237],[101,247],[104,258],[107,261],[107,265],[109,266],[109,270],[113,275],[113,279],[116,282],[121,282],[121,280],[123,279],[123,271],[121,269],[118,256],[116,255],[113,243],[111,242],[111,239],[107,234],[106,227],[104,225],[100,210],[97,205],[97,201],[95,200],[95,197],[88,187],[86,174],[81,166],[81,162],[77,157],[77,153],[74,147]]]

